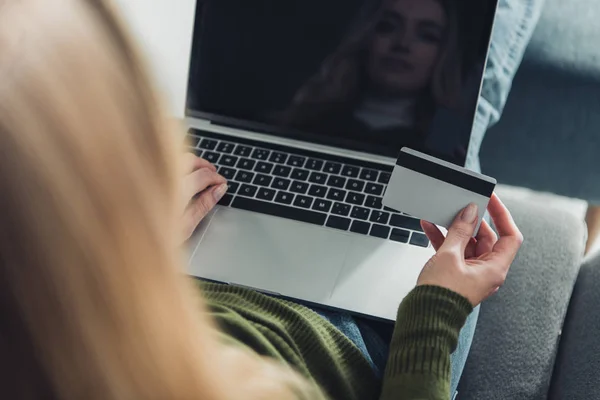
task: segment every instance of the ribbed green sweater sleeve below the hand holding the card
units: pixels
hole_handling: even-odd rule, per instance
[[[380,400],[450,399],[450,354],[470,302],[448,289],[418,286],[398,310]]]

